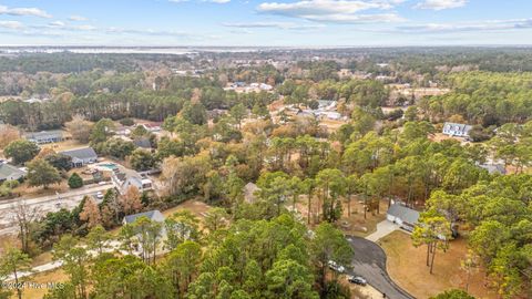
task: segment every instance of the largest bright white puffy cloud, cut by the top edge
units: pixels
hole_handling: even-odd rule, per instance
[[[263,13],[300,18],[309,21],[362,23],[396,22],[403,20],[393,12],[365,13],[368,10],[389,10],[403,0],[303,0],[293,3],[265,2],[257,10]]]

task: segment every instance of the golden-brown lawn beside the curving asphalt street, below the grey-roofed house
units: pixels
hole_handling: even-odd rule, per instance
[[[412,246],[410,236],[403,231],[393,231],[379,240],[388,260],[389,275],[400,287],[416,298],[429,298],[447,289],[466,288],[467,275],[460,269],[460,260],[468,249],[464,239],[450,244],[447,252],[438,251],[433,275],[426,266],[427,248]],[[497,298],[497,295],[484,287],[485,272],[480,270],[471,276],[469,292],[475,298]]]

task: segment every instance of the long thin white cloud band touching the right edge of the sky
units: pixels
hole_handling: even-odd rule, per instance
[[[490,20],[460,23],[427,23],[398,27],[406,33],[450,33],[464,31],[508,31],[532,29],[532,19]]]

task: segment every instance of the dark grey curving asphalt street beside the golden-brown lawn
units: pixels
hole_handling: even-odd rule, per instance
[[[347,237],[355,250],[349,275],[360,275],[374,288],[390,299],[412,299],[408,292],[397,286],[386,271],[386,254],[377,244],[358,237]]]

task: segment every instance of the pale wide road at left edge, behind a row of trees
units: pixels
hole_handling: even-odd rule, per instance
[[[16,227],[12,226],[12,217],[10,208],[18,202],[24,202],[28,206],[39,207],[41,215],[49,212],[57,212],[61,208],[72,209],[79,205],[85,195],[95,195],[96,193],[105,193],[105,190],[113,188],[114,185],[92,185],[84,186],[75,190],[69,190],[58,195],[47,195],[34,198],[16,198],[0,202],[0,236],[16,233]]]

